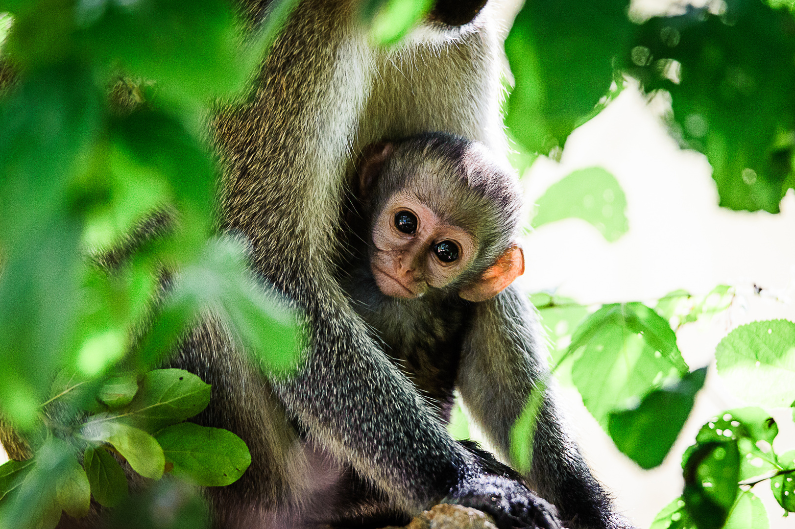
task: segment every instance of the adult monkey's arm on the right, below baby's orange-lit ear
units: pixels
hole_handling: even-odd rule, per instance
[[[495,298],[473,306],[474,317],[463,344],[459,389],[467,408],[502,457],[510,448],[510,428],[522,413],[535,381],[549,373],[541,329],[529,302],[510,286]],[[546,390],[533,443],[529,484],[555,504],[567,527],[631,527],[613,511],[611,498],[591,475],[566,432]]]

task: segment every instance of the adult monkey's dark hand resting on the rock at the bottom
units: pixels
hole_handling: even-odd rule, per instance
[[[464,480],[443,503],[487,512],[500,529],[560,529],[557,509],[518,481],[503,476]]]

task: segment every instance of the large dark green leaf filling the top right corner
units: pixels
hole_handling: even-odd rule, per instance
[[[724,6],[647,21],[625,62],[647,91],[671,92],[673,133],[707,155],[720,205],[776,213],[792,185],[795,19],[759,0]]]

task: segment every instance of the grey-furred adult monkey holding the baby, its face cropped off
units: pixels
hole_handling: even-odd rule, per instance
[[[438,0],[425,27],[394,51],[367,40],[360,3],[299,2],[250,99],[219,108],[212,122],[223,229],[250,240],[255,273],[295,301],[311,335],[305,368],[273,384],[217,321],[180,346],[173,365],[213,387],[200,422],[235,431],[252,453],[242,479],[211,491],[216,525],[377,524],[447,498],[490,511],[503,528],[556,527],[543,500],[449,437],[333,279],[343,186],[364,146],[444,130],[505,150],[501,43],[486,1]],[[252,25],[267,4],[243,6]],[[541,346],[514,290],[478,310],[460,387],[506,454],[510,426],[545,372]],[[570,527],[626,524],[561,433],[551,395],[529,483]]]

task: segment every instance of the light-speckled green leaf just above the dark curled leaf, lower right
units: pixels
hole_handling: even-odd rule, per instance
[[[701,427],[696,441],[737,440],[740,453],[740,480],[762,476],[778,469],[773,440],[778,425],[765,410],[757,407],[728,410]]]

